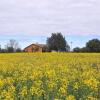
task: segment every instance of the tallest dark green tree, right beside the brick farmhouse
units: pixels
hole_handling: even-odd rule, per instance
[[[52,33],[51,37],[47,38],[47,46],[49,51],[66,51],[68,44],[61,33]]]

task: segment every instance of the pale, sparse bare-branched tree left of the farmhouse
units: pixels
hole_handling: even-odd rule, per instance
[[[16,40],[9,40],[9,43],[6,45],[7,52],[16,52],[19,49],[19,44]]]

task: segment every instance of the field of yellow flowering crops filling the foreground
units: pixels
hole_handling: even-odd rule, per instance
[[[0,100],[100,100],[100,54],[0,54]]]

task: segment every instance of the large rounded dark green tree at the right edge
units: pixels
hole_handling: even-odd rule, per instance
[[[100,40],[92,39],[86,43],[88,52],[100,52]]]

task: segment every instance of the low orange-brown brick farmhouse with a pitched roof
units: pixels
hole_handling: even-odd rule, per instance
[[[31,44],[29,46],[27,46],[24,51],[25,52],[43,52],[43,47],[45,45],[44,44]]]

